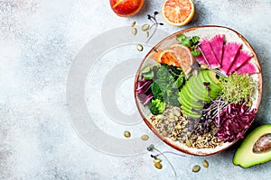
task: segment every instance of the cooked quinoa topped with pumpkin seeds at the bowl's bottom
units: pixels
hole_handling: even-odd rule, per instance
[[[151,123],[165,138],[179,141],[192,148],[216,148],[223,141],[216,135],[217,127],[210,123],[210,130],[199,131],[199,121],[188,118],[179,107],[167,106],[162,114],[152,115]]]

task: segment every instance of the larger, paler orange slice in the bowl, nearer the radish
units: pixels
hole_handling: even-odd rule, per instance
[[[173,53],[182,67],[184,74],[189,74],[192,70],[191,66],[195,62],[192,57],[191,49],[183,46],[182,44],[173,44],[171,49],[173,49]]]

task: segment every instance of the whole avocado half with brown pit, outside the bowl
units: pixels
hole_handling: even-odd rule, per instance
[[[233,164],[249,167],[271,160],[271,124],[259,126],[248,134],[233,157]]]

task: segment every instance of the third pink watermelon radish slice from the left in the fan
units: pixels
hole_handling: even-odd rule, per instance
[[[229,69],[233,65],[235,57],[238,54],[238,50],[241,48],[241,44],[238,42],[227,42],[224,45],[223,58],[221,63],[221,72],[225,75],[229,75]]]

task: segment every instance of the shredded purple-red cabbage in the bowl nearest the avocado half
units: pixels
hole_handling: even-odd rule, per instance
[[[233,141],[243,139],[243,133],[248,129],[256,116],[256,109],[250,109],[244,104],[229,103],[216,118],[217,135],[220,140]]]

